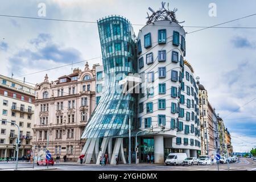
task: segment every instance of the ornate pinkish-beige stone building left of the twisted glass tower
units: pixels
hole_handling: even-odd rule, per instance
[[[32,144],[35,155],[44,158],[48,149],[53,158],[67,155],[77,161],[85,140],[81,139],[88,119],[95,107],[95,66],[85,64],[84,71],[74,69],[70,75],[36,84],[35,125]]]

